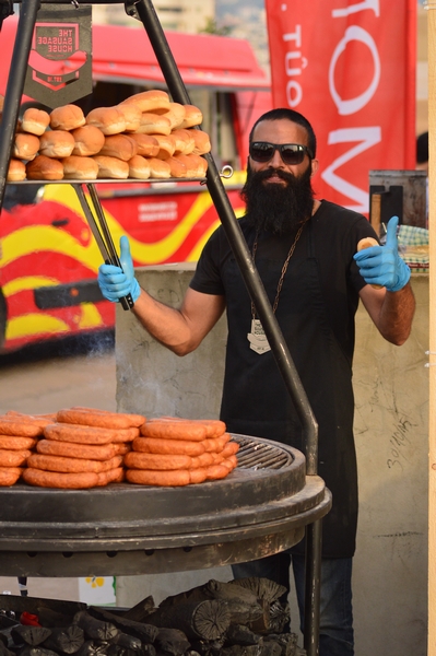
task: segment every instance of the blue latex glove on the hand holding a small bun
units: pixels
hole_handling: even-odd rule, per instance
[[[361,274],[368,284],[398,292],[410,280],[410,268],[398,254],[398,216],[388,223],[386,246],[370,246],[354,255]]]

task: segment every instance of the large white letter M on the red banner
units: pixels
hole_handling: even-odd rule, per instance
[[[343,128],[341,130],[333,130],[333,132],[329,132],[329,144],[349,143],[351,141],[360,141],[361,143],[357,143],[357,145],[334,160],[334,162],[332,162],[330,166],[322,172],[321,178],[328,185],[330,185],[330,187],[343,194],[343,196],[347,196],[356,201],[356,206],[344,206],[349,210],[367,212],[369,209],[368,192],[360,189],[351,183],[347,183],[334,172],[337,168],[343,164],[346,164],[346,162],[350,162],[350,160],[360,155],[368,148],[379,143],[381,141],[381,128],[379,126],[374,126],[372,128]]]

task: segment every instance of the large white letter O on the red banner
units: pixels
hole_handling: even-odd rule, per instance
[[[373,81],[369,84],[368,89],[363,94],[361,94],[356,98],[352,98],[351,101],[343,101],[341,98],[341,96],[339,95],[339,93],[337,92],[337,90],[334,89],[334,67],[338,62],[339,57],[345,50],[346,44],[354,39],[362,42],[369,48],[369,50],[373,55],[373,60],[374,60],[374,69],[375,69],[374,77],[373,77]],[[330,69],[329,69],[330,93],[334,101],[335,106],[338,107],[339,114],[341,116],[346,116],[350,114],[355,114],[356,112],[358,112],[360,109],[365,107],[365,105],[370,101],[370,98],[375,94],[379,81],[380,81],[380,59],[378,57],[377,46],[376,46],[373,37],[365,30],[363,30],[362,27],[358,27],[357,25],[352,25],[351,27],[347,27],[345,31],[344,38],[338,44],[338,46],[333,52],[333,58],[330,62]]]

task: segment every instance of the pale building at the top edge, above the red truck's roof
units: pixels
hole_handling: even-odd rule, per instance
[[[198,34],[203,32],[215,16],[215,0],[155,0],[153,5],[162,27],[173,32]],[[123,3],[94,4],[93,21],[113,25],[132,24],[132,19],[127,15]]]

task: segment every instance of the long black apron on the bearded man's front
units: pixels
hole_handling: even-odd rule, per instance
[[[313,230],[309,221],[290,260],[275,314],[318,422],[318,475],[333,496],[322,522],[322,555],[349,558],[357,525],[352,371],[329,323]],[[256,265],[271,302],[283,261],[262,259],[259,243]],[[234,258],[224,266],[223,281],[228,340],[221,418],[233,433],[282,442],[304,453],[302,425],[271,351],[257,354],[249,349],[250,301]],[[303,549],[301,543],[293,551]]]

